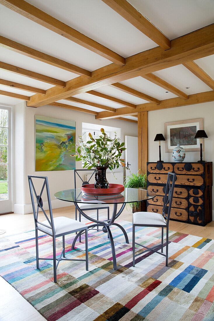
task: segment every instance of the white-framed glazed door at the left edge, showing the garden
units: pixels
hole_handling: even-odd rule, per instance
[[[0,106],[0,213],[11,212],[11,108]]]

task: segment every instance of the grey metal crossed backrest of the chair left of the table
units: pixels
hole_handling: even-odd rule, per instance
[[[34,187],[33,181],[40,180],[41,183],[43,183],[42,188],[40,192],[38,193]],[[29,188],[30,188],[30,194],[31,194],[31,203],[33,208],[33,217],[35,222],[35,227],[37,227],[37,224],[40,224],[39,229],[42,230],[41,226],[48,227],[50,230],[50,234],[55,235],[55,229],[54,229],[54,221],[53,221],[53,213],[52,213],[52,207],[51,207],[51,201],[50,201],[50,192],[49,192],[49,185],[48,185],[48,178],[47,176],[34,176],[34,175],[28,175],[28,182],[29,182]],[[42,201],[42,193],[46,189],[47,199],[48,199],[48,208],[49,213],[46,213],[43,209],[43,201]],[[35,203],[34,199],[36,200],[37,208],[35,209]],[[48,221],[49,225],[43,224],[38,221],[38,214],[39,209],[42,210],[46,220]],[[45,231],[47,233],[47,231]]]

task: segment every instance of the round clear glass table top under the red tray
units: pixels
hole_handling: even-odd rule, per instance
[[[80,188],[67,189],[54,194],[62,201],[84,204],[123,204],[146,201],[156,196],[153,192],[145,189],[125,187],[124,191],[118,195],[88,195],[84,194]]]

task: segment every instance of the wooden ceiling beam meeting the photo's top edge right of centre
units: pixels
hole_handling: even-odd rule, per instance
[[[156,42],[156,44],[163,49],[171,48],[171,41],[144,17],[138,10],[136,10],[126,0],[102,0],[111,9],[120,14],[124,19],[130,22],[135,28],[144,33],[148,38]]]

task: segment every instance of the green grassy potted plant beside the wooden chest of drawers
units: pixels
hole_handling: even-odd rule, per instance
[[[147,174],[139,174],[139,170],[137,174],[132,173],[125,178],[124,187],[146,189]],[[128,207],[130,207],[134,212],[137,212],[137,210],[139,210],[139,208],[141,207],[141,203],[142,202],[129,203]]]

